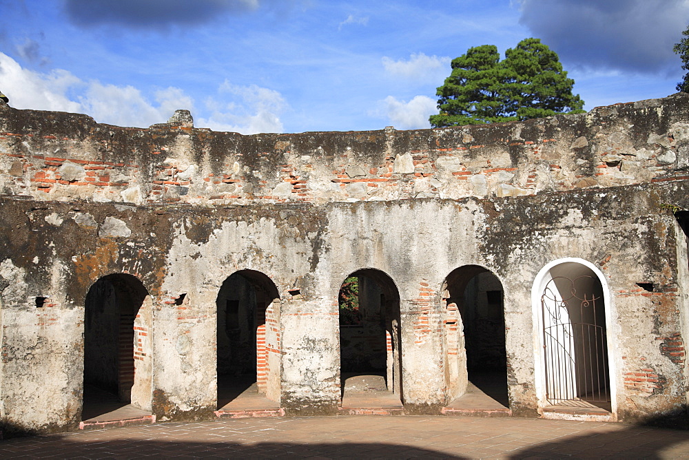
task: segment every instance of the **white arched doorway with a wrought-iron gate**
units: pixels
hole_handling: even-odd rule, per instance
[[[611,411],[606,289],[587,264],[553,264],[539,277],[544,404]]]

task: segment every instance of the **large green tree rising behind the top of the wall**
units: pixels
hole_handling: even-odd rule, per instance
[[[524,39],[500,54],[493,45],[470,48],[453,59],[452,73],[438,87],[440,114],[433,127],[501,123],[558,113],[584,112],[572,94],[557,54],[539,39]]]

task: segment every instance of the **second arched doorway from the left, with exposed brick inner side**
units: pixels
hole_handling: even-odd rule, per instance
[[[250,398],[254,405],[279,406],[280,295],[275,284],[258,271],[237,271],[223,282],[216,306],[218,409],[247,409],[242,401]]]

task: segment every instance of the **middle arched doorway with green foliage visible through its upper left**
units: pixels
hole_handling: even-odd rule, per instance
[[[400,295],[384,272],[351,273],[338,294],[342,406],[401,408]]]

